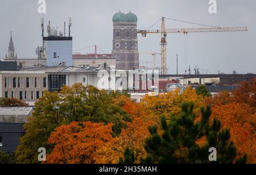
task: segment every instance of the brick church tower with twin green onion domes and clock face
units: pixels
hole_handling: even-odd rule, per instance
[[[117,69],[139,69],[137,40],[137,22],[135,14],[119,11],[113,16],[113,51]]]

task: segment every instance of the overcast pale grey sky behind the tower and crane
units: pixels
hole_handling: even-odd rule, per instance
[[[209,73],[256,73],[256,1],[217,0],[217,14],[208,12],[209,0],[46,0],[46,14],[38,13],[38,0],[8,0],[0,5],[0,57],[5,57],[13,31],[18,57],[36,57],[35,49],[42,45],[40,19],[51,20],[52,27],[64,31],[64,21],[72,17],[73,50],[97,44],[105,53],[112,51],[115,12],[138,16],[138,28],[147,29],[162,16],[218,27],[249,27],[248,32],[169,34],[167,37],[168,73],[176,73],[176,53],[179,73],[191,65],[209,69]],[[45,24],[45,27],[47,24]],[[167,28],[200,27],[166,20]],[[152,29],[159,29],[157,23]],[[46,35],[46,34],[45,34]],[[160,52],[160,35],[138,36],[140,52]],[[83,53],[91,53],[86,49]],[[152,62],[152,56],[141,55],[142,65]],[[149,63],[148,66],[150,66]],[[160,56],[158,56],[160,66]],[[205,72],[206,73],[206,72]]]

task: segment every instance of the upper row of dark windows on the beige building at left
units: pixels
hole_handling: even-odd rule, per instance
[[[33,81],[33,80],[32,80]],[[22,87],[22,82],[23,82],[23,78],[18,77],[18,86],[17,86],[17,78],[13,77],[13,88],[20,88]],[[38,87],[38,82],[39,82],[39,78],[35,77],[34,78],[34,87]],[[43,78],[43,87],[46,88],[47,84],[46,84],[46,77]],[[10,78],[5,77],[5,88],[10,87]],[[29,88],[30,87],[30,78],[27,77],[26,78],[26,87]],[[32,87],[32,86],[31,86]]]

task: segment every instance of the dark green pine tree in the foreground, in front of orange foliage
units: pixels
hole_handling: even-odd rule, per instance
[[[180,116],[172,116],[170,123],[162,117],[161,135],[156,126],[149,128],[151,136],[146,139],[144,145],[148,155],[142,160],[143,163],[234,163],[236,147],[233,141],[229,141],[230,132],[227,128],[221,130],[221,122],[217,119],[210,124],[211,114],[210,106],[201,108],[201,120],[195,122],[193,104],[185,103]],[[205,141],[200,145],[198,140],[202,138],[205,138]],[[208,159],[211,147],[217,149],[217,161],[210,162]],[[237,160],[237,163],[245,162],[246,156]]]

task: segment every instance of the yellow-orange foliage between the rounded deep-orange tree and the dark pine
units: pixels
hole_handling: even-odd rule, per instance
[[[104,147],[98,149],[97,156],[94,157],[99,164],[117,164],[119,157],[123,157],[126,147],[133,149],[135,153],[135,163],[140,163],[141,158],[146,157],[144,142],[150,135],[148,127],[154,124],[146,122],[142,118],[134,118],[132,123],[128,123],[128,128],[122,130],[120,136],[106,143]]]

